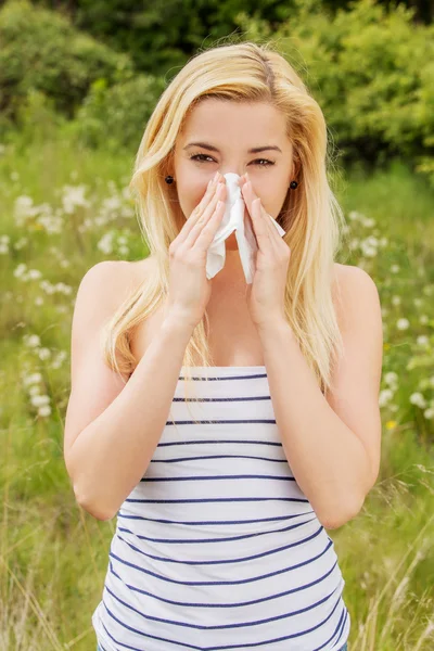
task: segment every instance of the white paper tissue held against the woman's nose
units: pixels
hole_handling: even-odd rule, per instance
[[[238,184],[240,176],[238,174],[225,174],[227,187],[226,210],[221,224],[208,247],[206,257],[206,278],[214,278],[225,266],[226,246],[225,240],[235,231],[238,250],[243,267],[245,281],[247,284],[253,282],[255,273],[255,253],[257,251],[256,238],[252,230],[250,219],[244,222],[245,202],[241,194],[241,188]],[[280,235],[284,235],[283,228],[269,216]]]

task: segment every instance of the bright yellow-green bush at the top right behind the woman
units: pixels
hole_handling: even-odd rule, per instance
[[[418,25],[403,4],[374,0],[328,15],[320,0],[297,0],[277,31],[243,16],[246,31],[273,40],[318,100],[346,161],[392,156],[430,171],[434,156],[434,25]],[[423,166],[423,167],[422,167]],[[434,183],[434,165],[431,168]]]

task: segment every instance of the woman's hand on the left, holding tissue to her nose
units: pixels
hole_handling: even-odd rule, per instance
[[[210,298],[206,256],[225,215],[226,179],[219,173],[217,175],[169,246],[167,308],[194,328],[202,320]]]

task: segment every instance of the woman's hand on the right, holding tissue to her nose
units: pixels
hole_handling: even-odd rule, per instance
[[[285,318],[284,296],[291,250],[271,224],[247,175],[241,177],[240,187],[258,245],[256,269],[252,284],[247,284],[246,299],[253,322],[261,328]]]

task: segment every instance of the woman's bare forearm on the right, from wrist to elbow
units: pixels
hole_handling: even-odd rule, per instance
[[[340,526],[363,502],[367,451],[322,395],[291,327],[275,321],[259,336],[288,462],[321,523]]]

